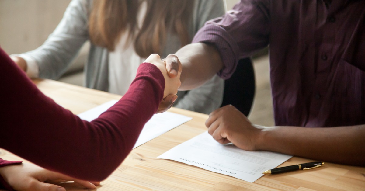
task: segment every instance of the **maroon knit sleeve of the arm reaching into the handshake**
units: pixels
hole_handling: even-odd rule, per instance
[[[0,147],[43,168],[100,181],[122,163],[157,111],[165,80],[142,63],[127,93],[92,122],[45,96],[0,49]]]

